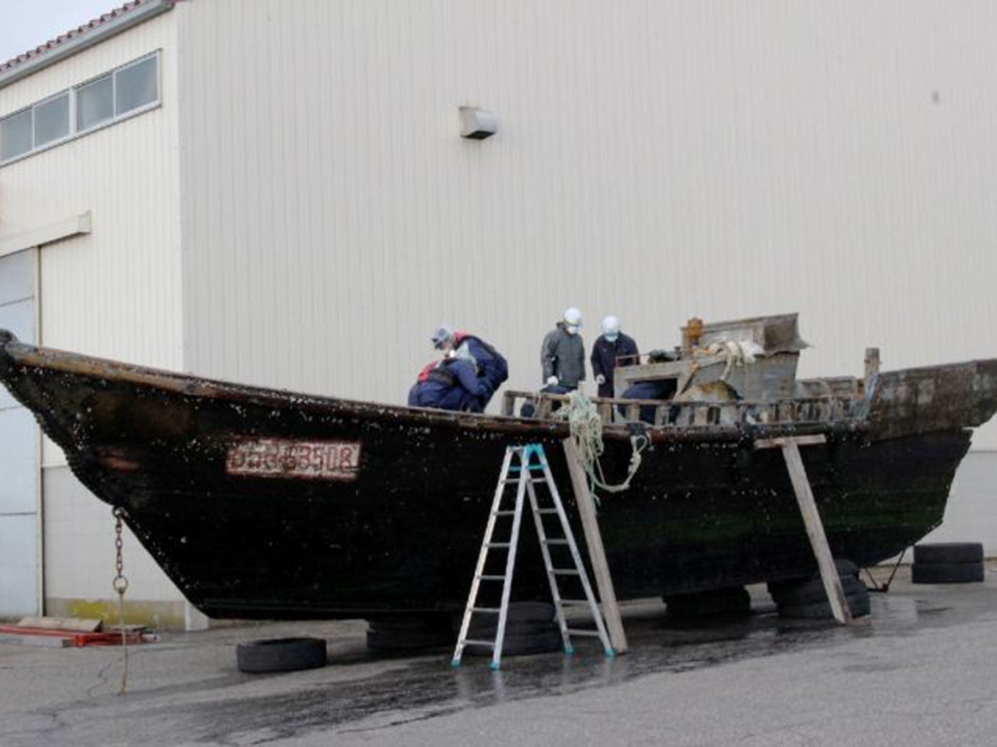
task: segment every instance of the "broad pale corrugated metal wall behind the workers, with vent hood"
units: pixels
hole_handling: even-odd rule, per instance
[[[535,387],[569,304],[645,349],[800,311],[805,374],[997,355],[991,3],[177,13],[194,371],[399,402],[447,321]]]

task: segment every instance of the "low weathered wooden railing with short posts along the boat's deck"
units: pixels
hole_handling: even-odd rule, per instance
[[[567,394],[506,391],[502,414],[548,419],[566,403]],[[662,427],[690,425],[809,424],[849,420],[865,413],[865,398],[822,395],[775,401],[694,402],[590,397],[606,425],[643,421]],[[527,408],[524,411],[523,405]]]

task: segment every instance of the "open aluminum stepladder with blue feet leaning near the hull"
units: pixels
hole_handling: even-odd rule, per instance
[[[534,462],[535,457],[535,462]],[[518,460],[513,464],[513,460]],[[514,476],[510,476],[514,475]],[[550,505],[541,506],[537,498],[537,491],[534,485],[545,483],[547,493],[550,496]],[[515,506],[505,509],[502,507],[503,499],[507,496],[506,488],[515,485]],[[550,584],[550,595],[553,598],[554,610],[557,614],[557,624],[560,626],[561,638],[564,641],[564,652],[574,653],[574,646],[571,644],[572,635],[587,635],[598,637],[602,642],[602,648],[606,656],[615,655],[615,651],[609,642],[609,635],[606,633],[605,623],[602,620],[602,613],[595,602],[592,594],[592,587],[588,583],[588,576],[585,574],[585,567],[581,562],[581,555],[578,552],[577,543],[571,533],[571,526],[567,521],[567,514],[564,513],[564,506],[561,503],[560,494],[554,484],[553,475],[550,473],[550,466],[547,463],[543,446],[538,443],[525,446],[508,446],[505,449],[505,458],[502,461],[501,473],[498,476],[495,499],[492,502],[492,512],[489,514],[489,522],[485,528],[485,539],[482,542],[482,551],[478,556],[478,567],[475,569],[475,577],[471,582],[471,593],[468,596],[468,607],[464,611],[464,621],[461,623],[461,632],[457,639],[457,648],[454,650],[454,658],[451,663],[457,667],[461,665],[461,656],[466,645],[482,645],[493,650],[491,667],[498,669],[501,664],[502,641],[505,636],[505,622],[508,614],[508,597],[512,587],[512,572],[515,568],[515,551],[519,540],[519,524],[522,519],[523,499],[529,497],[529,505],[533,512],[533,522],[536,525],[536,536],[540,543],[540,553],[543,556],[543,565],[546,568],[547,581]],[[510,496],[509,496],[510,497]],[[552,537],[548,535],[543,526],[543,516],[556,514],[560,523],[562,536]],[[499,519],[512,520],[512,527],[507,542],[494,542],[496,524]],[[553,530],[556,531],[556,530]],[[571,564],[567,568],[554,568],[550,558],[550,547],[567,547],[571,554]],[[505,552],[505,573],[504,575],[487,575],[485,573],[486,563],[489,559],[490,551]],[[584,590],[584,600],[562,599],[558,587],[558,579],[561,577],[577,578],[581,582]],[[501,603],[498,608],[478,607],[478,595],[482,582],[501,582]],[[564,620],[565,607],[587,607],[595,621],[595,630],[568,627]],[[471,620],[476,615],[498,616],[498,626],[494,640],[468,638],[468,630],[471,627]]]

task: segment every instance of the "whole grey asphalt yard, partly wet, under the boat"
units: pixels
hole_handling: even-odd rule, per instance
[[[884,572],[876,575],[882,579]],[[913,586],[901,569],[870,618],[754,614],[678,622],[627,604],[631,650],[384,656],[349,622],[238,624],[120,648],[0,644],[0,745],[997,745],[997,575]],[[235,644],[325,637],[329,665],[251,675]]]

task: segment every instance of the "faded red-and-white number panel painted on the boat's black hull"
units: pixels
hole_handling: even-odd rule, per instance
[[[230,475],[318,480],[355,480],[359,468],[359,443],[283,438],[235,441],[225,462]]]

